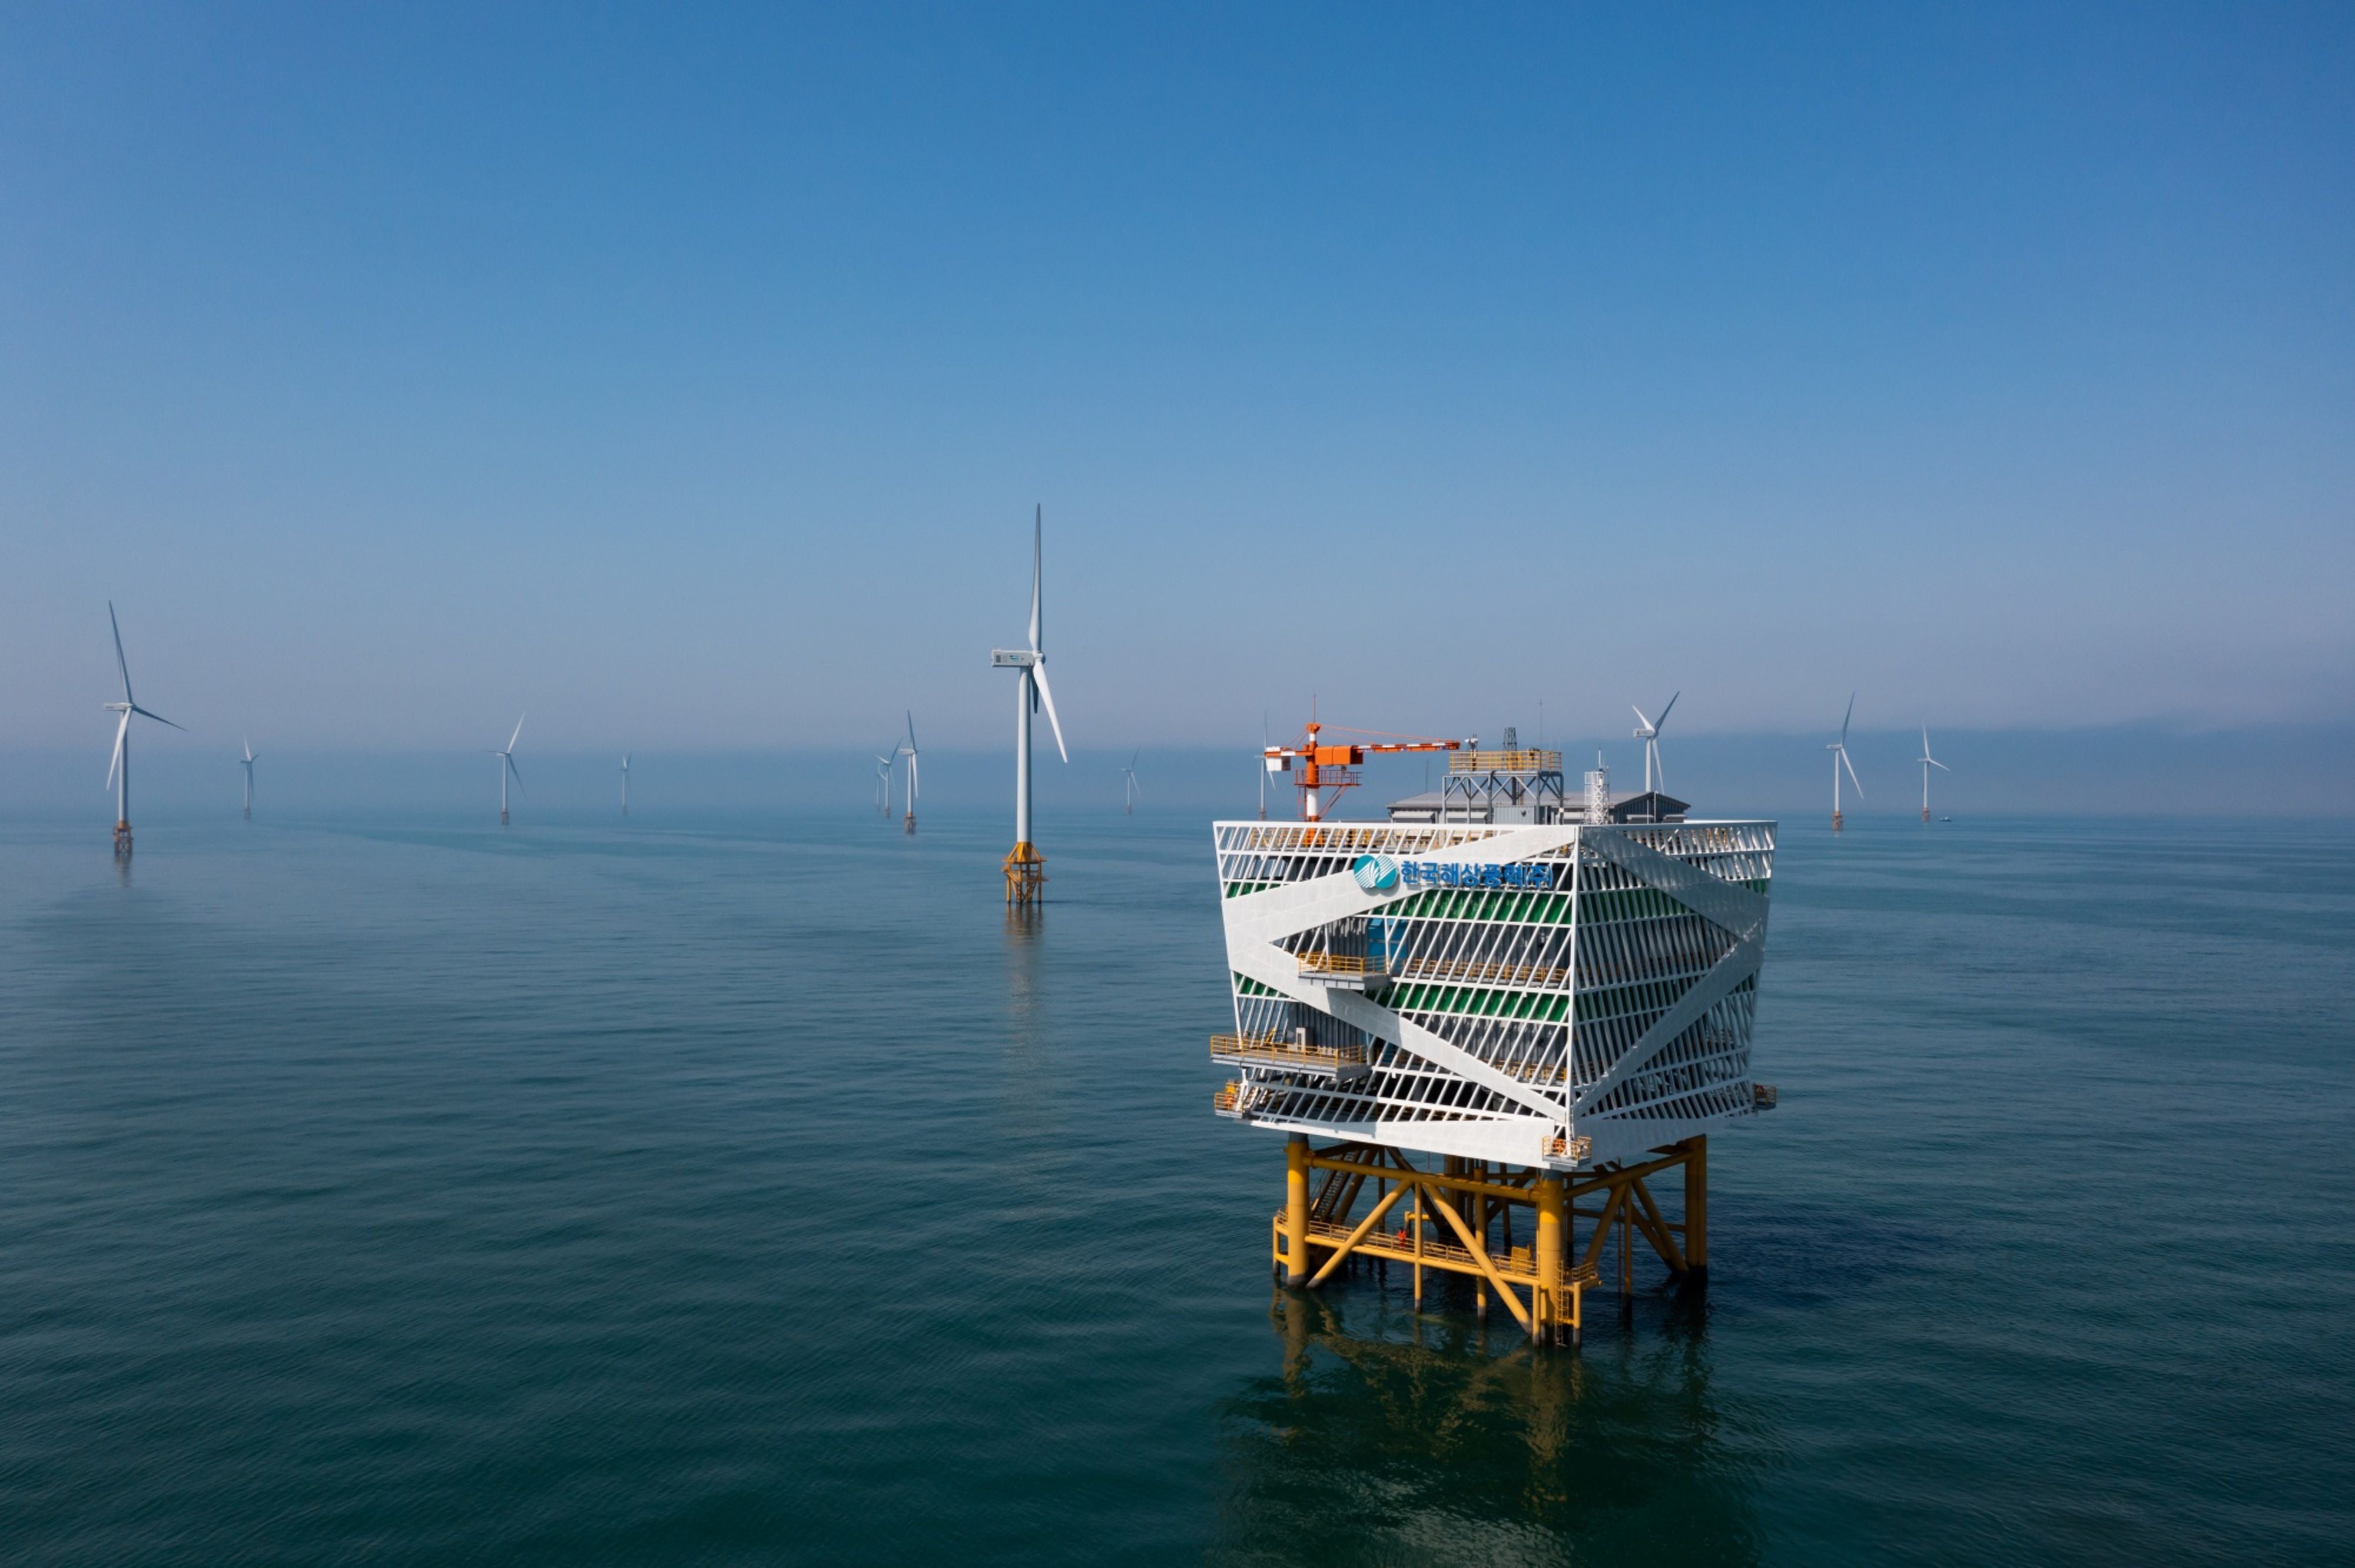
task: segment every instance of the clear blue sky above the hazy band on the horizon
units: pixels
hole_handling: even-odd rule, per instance
[[[2355,720],[2346,7],[9,7],[0,744]]]

